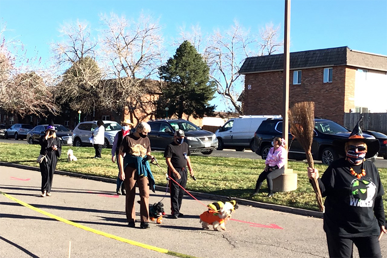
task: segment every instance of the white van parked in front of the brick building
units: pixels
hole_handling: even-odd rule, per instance
[[[245,148],[254,148],[254,133],[263,120],[279,118],[281,115],[241,115],[229,119],[215,132],[218,138],[218,150],[235,149],[244,151]]]

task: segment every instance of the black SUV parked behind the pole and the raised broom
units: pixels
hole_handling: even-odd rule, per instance
[[[289,125],[290,131],[290,125]],[[344,126],[328,119],[314,119],[314,137],[312,143],[312,157],[314,160],[320,160],[329,165],[332,161],[339,158],[339,155],[332,147],[334,140],[348,138],[351,134]],[[365,138],[375,139],[373,136],[363,134]],[[267,119],[263,121],[255,132],[254,147],[255,153],[263,159],[272,147],[271,142],[274,137],[282,137],[282,119]],[[289,133],[289,152],[288,158],[295,160],[304,160],[305,152],[297,139],[293,141]]]

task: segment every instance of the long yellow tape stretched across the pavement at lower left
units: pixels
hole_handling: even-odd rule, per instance
[[[64,222],[64,223],[72,225],[72,226],[75,226],[77,228],[81,228],[81,229],[84,229],[86,231],[93,232],[93,233],[98,234],[98,235],[106,236],[106,237],[109,237],[109,238],[112,238],[112,239],[115,239],[115,240],[118,240],[118,241],[121,241],[121,242],[124,242],[124,243],[140,246],[140,247],[143,247],[143,248],[146,248],[146,249],[149,249],[149,250],[153,250],[153,251],[157,251],[157,252],[161,252],[161,253],[166,253],[166,254],[169,254],[169,255],[172,255],[172,256],[177,256],[177,257],[181,257],[181,258],[197,258],[196,256],[191,256],[191,255],[188,255],[188,254],[183,254],[183,253],[179,253],[179,252],[170,251],[170,250],[167,250],[167,249],[164,249],[164,248],[159,248],[159,247],[152,246],[152,245],[149,245],[149,244],[140,243],[140,242],[129,240],[129,239],[126,239],[126,238],[123,238],[123,237],[119,237],[119,236],[115,236],[115,235],[112,235],[112,234],[109,234],[109,233],[105,233],[105,232],[102,232],[102,231],[99,231],[99,230],[96,230],[96,229],[93,229],[93,228],[90,228],[90,227],[86,227],[86,226],[83,226],[81,224],[75,223],[73,221],[70,221],[70,220],[67,220],[67,219],[63,219],[63,218],[60,218],[60,217],[58,217],[56,215],[53,215],[51,213],[45,212],[43,210],[40,210],[40,209],[38,209],[38,208],[36,208],[36,207],[34,207],[32,205],[29,205],[29,204],[27,204],[25,202],[22,202],[22,201],[14,198],[14,197],[8,195],[5,192],[0,191],[0,193],[3,196],[7,197],[8,199],[11,199],[12,201],[14,201],[14,202],[16,202],[16,203],[18,203],[20,205],[23,205],[23,206],[25,206],[27,208],[30,208],[31,210],[39,212],[39,213],[41,213],[43,215],[46,215],[46,216],[48,216],[50,218],[53,218],[55,220]]]

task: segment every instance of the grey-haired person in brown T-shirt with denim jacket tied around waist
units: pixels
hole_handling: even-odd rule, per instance
[[[141,228],[149,228],[149,188],[155,192],[155,180],[152,175],[148,160],[153,161],[151,143],[147,137],[151,126],[140,122],[136,132],[122,140],[119,147],[118,166],[119,177],[124,181],[126,190],[125,212],[128,226],[136,226],[136,183],[140,190],[140,216]],[[125,156],[125,157],[124,157]]]

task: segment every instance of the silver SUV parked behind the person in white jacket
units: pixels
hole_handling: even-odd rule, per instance
[[[111,148],[114,137],[122,129],[121,125],[115,121],[103,121],[105,127],[105,144],[103,148]],[[73,130],[73,146],[92,146],[89,138],[91,133],[97,128],[97,121],[80,122]]]

